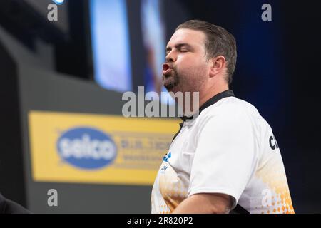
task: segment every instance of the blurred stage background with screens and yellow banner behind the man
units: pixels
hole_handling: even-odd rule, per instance
[[[261,19],[265,3],[272,21]],[[178,24],[203,19],[236,38],[231,88],[272,126],[295,212],[321,212],[315,1],[65,0],[56,5],[58,21],[47,18],[53,1],[0,4],[0,192],[7,198],[32,212],[149,213],[153,178],[179,121],[121,118],[121,95],[138,86],[165,91],[167,41]],[[99,145],[112,151],[108,159],[69,159],[93,139],[109,142]],[[47,204],[50,189],[58,207]]]

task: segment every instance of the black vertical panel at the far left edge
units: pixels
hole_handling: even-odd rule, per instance
[[[25,205],[24,163],[21,147],[21,121],[17,68],[0,43],[0,192],[8,199]]]

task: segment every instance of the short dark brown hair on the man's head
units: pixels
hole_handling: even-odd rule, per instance
[[[207,21],[190,20],[180,24],[175,31],[180,28],[188,28],[203,31],[206,36],[205,50],[208,59],[216,56],[224,56],[227,63],[227,82],[232,82],[232,76],[236,65],[236,42],[234,36],[220,26],[216,26]]]

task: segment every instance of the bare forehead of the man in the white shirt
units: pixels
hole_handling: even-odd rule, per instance
[[[173,47],[178,43],[188,43],[191,46],[202,45],[205,40],[205,34],[202,31],[196,31],[188,28],[180,28],[178,31],[175,31],[173,36],[168,41],[167,46]]]

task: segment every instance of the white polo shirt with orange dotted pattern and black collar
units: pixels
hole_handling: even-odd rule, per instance
[[[184,120],[158,170],[152,213],[170,213],[190,195],[223,193],[233,209],[294,213],[285,168],[270,125],[232,90]]]

